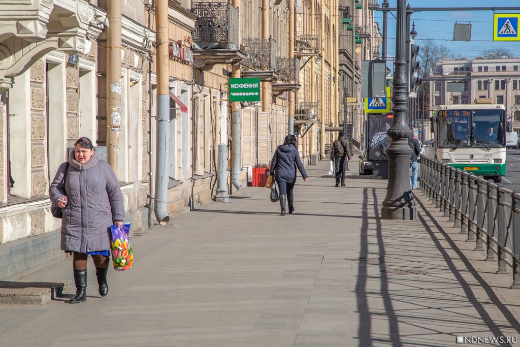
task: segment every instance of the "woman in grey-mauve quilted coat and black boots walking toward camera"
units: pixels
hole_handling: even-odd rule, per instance
[[[74,253],[76,294],[70,303],[86,300],[87,255],[96,266],[99,294],[107,295],[110,226],[121,227],[125,215],[123,195],[112,168],[98,159],[88,138],[81,137],[74,147],[49,187],[50,200],[63,212],[61,249]]]

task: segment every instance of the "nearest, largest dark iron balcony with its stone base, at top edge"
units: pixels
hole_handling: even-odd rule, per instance
[[[197,16],[191,33],[195,68],[238,65],[245,59],[239,47],[239,11],[235,6],[229,2],[193,2],[191,12]]]

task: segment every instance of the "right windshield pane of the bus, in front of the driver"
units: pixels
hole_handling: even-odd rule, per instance
[[[504,111],[473,110],[473,147],[504,147]]]

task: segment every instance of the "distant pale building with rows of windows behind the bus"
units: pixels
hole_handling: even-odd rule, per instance
[[[505,106],[507,121],[514,131],[520,131],[520,58],[446,59],[435,66],[429,79],[431,115],[439,105],[471,104],[476,98],[489,98]],[[448,91],[453,82],[463,83],[463,91]]]

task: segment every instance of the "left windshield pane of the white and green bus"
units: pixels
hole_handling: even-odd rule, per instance
[[[439,148],[470,147],[470,110],[441,110],[438,112]]]

